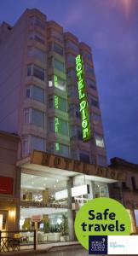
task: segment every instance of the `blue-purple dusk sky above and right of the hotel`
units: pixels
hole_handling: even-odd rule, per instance
[[[0,23],[40,9],[90,45],[108,162],[138,164],[138,0],[1,0]]]

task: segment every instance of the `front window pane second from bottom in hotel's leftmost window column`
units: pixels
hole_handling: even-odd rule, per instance
[[[44,112],[32,109],[32,124],[44,128]]]

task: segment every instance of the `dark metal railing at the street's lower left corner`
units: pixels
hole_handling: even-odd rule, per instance
[[[36,250],[36,230],[0,230],[0,253],[27,249],[32,246]]]

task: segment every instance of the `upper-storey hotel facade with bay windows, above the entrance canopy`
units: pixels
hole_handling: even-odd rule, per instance
[[[0,127],[20,135],[20,156],[37,149],[106,166],[89,45],[37,9],[3,23],[0,42]]]

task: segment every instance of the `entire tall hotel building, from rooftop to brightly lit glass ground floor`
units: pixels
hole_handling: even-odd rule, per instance
[[[35,215],[39,230],[53,233],[40,241],[73,240],[78,208],[124,180],[106,167],[91,49],[26,9],[14,26],[0,26],[0,60],[0,130],[20,136],[20,229]]]

